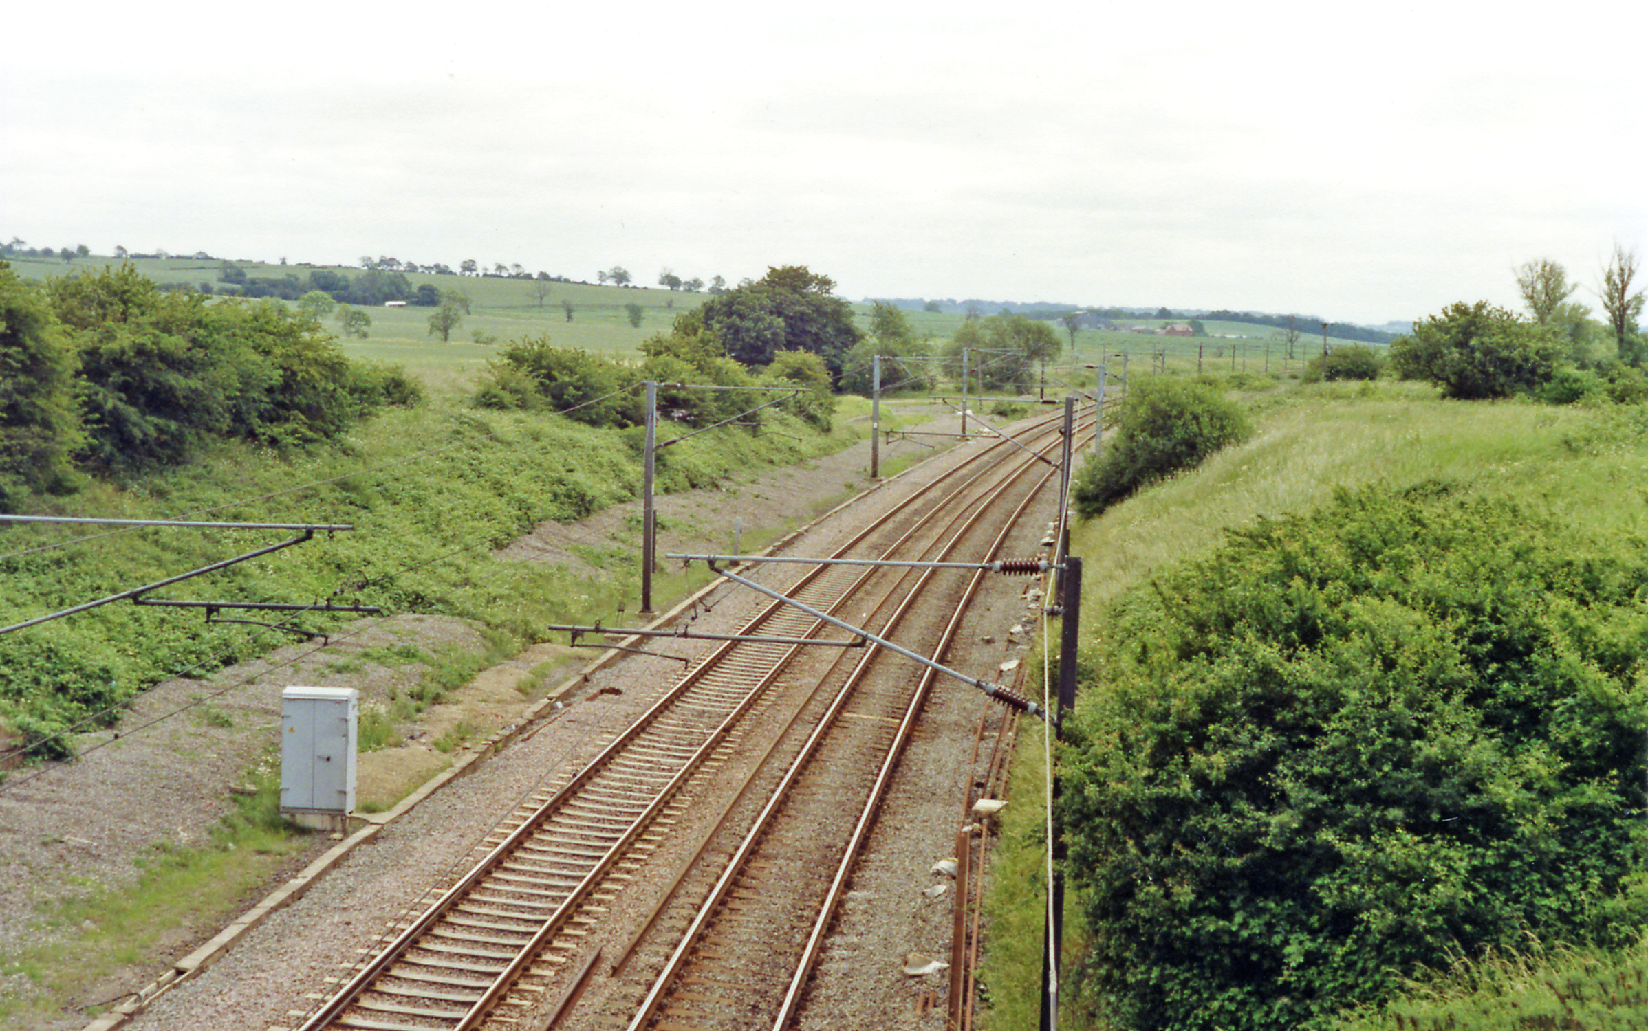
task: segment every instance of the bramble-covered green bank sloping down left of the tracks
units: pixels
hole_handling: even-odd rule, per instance
[[[758,433],[714,430],[661,451],[658,489],[793,464],[839,450],[857,433],[852,425],[819,433],[783,413],[771,415]],[[527,642],[541,639],[545,623],[616,611],[626,593],[633,596],[634,578],[588,581],[493,552],[539,522],[578,519],[633,497],[639,481],[638,433],[539,413],[475,410],[453,399],[391,410],[336,446],[302,455],[221,443],[198,461],[133,476],[120,488],[91,484],[71,497],[40,499],[38,511],[349,524],[351,532],[323,534],[175,585],[163,596],[292,604],[331,599],[391,613],[452,614]],[[13,527],[0,558],[8,585],[0,619],[33,618],[287,537],[279,530],[101,535]],[[270,621],[280,619],[287,618]],[[343,616],[305,613],[290,619],[302,629],[325,631]],[[166,677],[203,675],[290,639],[280,631],[204,623],[180,609],[109,604],[0,637],[0,720],[28,736],[33,754],[64,754],[73,738],[59,736],[63,731],[82,721],[105,725],[119,713],[110,707],[133,692]]]

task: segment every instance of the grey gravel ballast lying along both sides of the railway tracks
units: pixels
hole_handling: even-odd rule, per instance
[[[676,525],[686,530],[697,529],[694,535],[682,532],[679,540],[667,537],[661,542],[661,553],[667,550],[722,550],[732,524],[732,512],[745,517],[745,529],[753,530],[756,520],[751,512],[760,512],[765,520],[781,520],[784,517],[799,519],[806,511],[832,494],[842,492],[842,484],[862,478],[867,468],[867,445],[859,445],[832,460],[817,460],[809,469],[791,469],[765,486],[745,486],[738,492],[699,492],[700,497],[674,499],[681,504],[681,516]],[[925,448],[908,445],[906,451],[925,453]],[[893,448],[883,446],[883,460]],[[796,479],[798,473],[806,473],[811,489],[804,489]],[[893,481],[868,496],[867,502],[855,506],[845,517],[834,517],[826,524],[809,530],[798,548],[804,553],[822,553],[832,547],[832,540],[849,534],[868,517],[868,509],[890,506],[908,491],[923,483],[926,474],[915,474]],[[717,497],[717,494],[720,494]],[[671,499],[661,499],[659,509],[666,514]],[[597,517],[597,524],[585,527],[583,539],[588,542],[608,542],[611,525],[621,525],[625,512],[606,512]],[[567,542],[567,527],[544,527],[541,534],[555,542]],[[526,540],[517,548],[539,560],[555,560],[555,543],[549,539]],[[1033,550],[1033,548],[1032,548]],[[1030,553],[1030,552],[1025,552]],[[526,557],[526,555],[522,555]],[[765,567],[760,578],[780,581],[794,576],[788,567]],[[1023,581],[1017,581],[1020,586]],[[700,627],[732,627],[747,619],[761,604],[761,599],[750,598],[747,591],[722,588],[712,598],[712,611],[700,618]],[[455,621],[420,621],[427,618],[404,618],[412,621],[399,631],[461,634],[473,632]],[[989,623],[999,644],[995,652],[1007,654],[1010,647],[1005,641],[1005,629],[999,623],[1010,624],[1005,613],[999,613]],[[397,631],[397,632],[399,632]],[[969,629],[969,639],[974,634]],[[399,637],[397,637],[399,639]],[[689,657],[709,647],[704,642],[661,639],[648,646],[653,651]],[[593,654],[592,654],[593,655]],[[280,657],[270,657],[270,664]],[[994,659],[990,659],[994,660]],[[316,884],[288,907],[272,914],[264,924],[247,932],[242,940],[219,959],[199,977],[185,982],[162,995],[143,1015],[138,1015],[130,1028],[264,1028],[290,1026],[295,1023],[292,1011],[308,1008],[315,1000],[311,993],[330,993],[333,985],[326,978],[348,975],[348,967],[359,959],[361,952],[372,949],[382,931],[405,914],[420,907],[432,883],[440,883],[455,865],[470,856],[478,842],[517,800],[545,782],[555,771],[572,769],[582,764],[600,744],[625,726],[649,705],[656,695],[667,687],[682,669],[681,662],[636,655],[595,674],[585,685],[569,695],[565,708],[552,713],[541,726],[529,730],[516,743],[499,754],[471,767],[473,772],[461,777],[420,802],[410,814],[387,825],[372,843],[354,848],[333,871],[320,878]],[[359,674],[358,674],[359,675]],[[279,695],[285,683],[292,682],[331,682],[359,687],[349,679],[323,680],[320,677],[300,679],[297,675],[277,675],[259,690],[236,692],[221,703],[236,707],[237,715],[244,710],[246,718],[236,720],[236,726],[272,726],[279,720]],[[145,700],[155,711],[166,705],[186,702],[201,687],[191,682],[173,682],[157,688]],[[943,718],[933,723],[933,731],[923,731],[911,748],[911,759],[921,756],[920,763],[906,761],[906,769],[913,766],[931,767],[918,779],[918,787],[908,791],[910,802],[918,810],[933,810],[928,815],[915,817],[898,810],[898,817],[882,825],[903,828],[931,822],[931,832],[921,832],[920,843],[898,842],[908,847],[911,858],[900,870],[920,866],[916,879],[920,886],[915,898],[926,903],[920,888],[931,883],[926,873],[934,858],[943,858],[953,850],[957,814],[961,812],[961,792],[966,772],[966,754],[972,746],[972,733],[977,726],[979,711],[987,708],[981,698],[971,692],[941,692],[934,711],[948,708],[964,710],[959,721]],[[140,710],[148,711],[148,710]],[[135,718],[129,718],[132,725]],[[954,726],[951,726],[954,723]],[[239,751],[229,744],[206,744],[216,741],[213,735],[199,733],[199,726],[185,726],[181,720],[171,721],[175,730],[166,735],[148,733],[133,735],[122,739],[119,746],[110,746],[91,753],[84,759],[63,767],[61,774],[53,774],[35,781],[23,791],[0,792],[0,847],[7,848],[5,873],[0,881],[0,950],[7,942],[38,940],[40,929],[35,926],[35,906],[40,901],[36,888],[20,888],[30,876],[44,871],[63,870],[84,876],[101,884],[130,883],[137,871],[132,860],[145,848],[160,840],[191,840],[191,835],[204,835],[226,805],[226,789],[244,777],[247,766],[264,754],[265,744],[241,744]],[[966,725],[961,731],[956,728]],[[166,726],[166,725],[160,725]],[[926,721],[925,721],[926,726]],[[939,730],[941,728],[941,730]],[[190,748],[180,748],[183,735]],[[941,746],[957,736],[957,741]],[[257,735],[244,735],[257,739]],[[948,748],[948,751],[946,751]],[[928,753],[928,749],[938,749]],[[959,759],[956,758],[959,751]],[[183,754],[190,753],[190,754]],[[915,774],[913,774],[915,776]],[[903,777],[903,774],[901,774]],[[944,782],[938,789],[933,777]],[[901,791],[895,787],[895,791]],[[214,809],[216,807],[216,809]],[[43,827],[54,827],[43,832]],[[877,832],[877,840],[882,837]],[[16,851],[12,843],[26,845],[30,838],[41,840],[58,835],[58,842],[49,845],[23,847]],[[903,835],[893,835],[901,838]],[[936,843],[936,845],[934,845]],[[328,842],[316,843],[316,850]],[[934,855],[934,850],[939,855]],[[872,856],[870,866],[878,860]],[[21,876],[18,876],[21,873]],[[651,865],[643,876],[666,876],[667,863]],[[908,881],[908,873],[897,875]],[[38,881],[36,881],[38,883]],[[903,893],[903,888],[887,888],[887,891]],[[857,891],[857,886],[855,886]],[[867,889],[868,891],[868,889]],[[255,901],[255,899],[252,899]],[[623,898],[615,906],[625,906]],[[842,926],[854,919],[855,906],[849,903],[840,917]],[[890,950],[901,960],[903,952],[918,945],[910,944],[921,939],[920,947],[946,950],[948,937],[929,942],[931,935],[923,931],[925,909],[943,909],[948,916],[949,899],[938,899],[936,906],[916,904],[905,912],[903,907],[864,906],[864,909],[885,909],[878,916],[887,917],[883,944],[857,945],[864,954],[875,954],[875,963],[885,963],[895,977],[883,977],[887,982],[880,998],[893,1000],[908,996],[905,975],[897,972]],[[943,921],[939,921],[943,922]],[[948,924],[946,924],[948,926]],[[209,937],[218,927],[196,927],[190,940],[180,940],[175,955],[183,955],[194,944]],[[864,940],[862,931],[854,932],[854,940]],[[834,945],[832,945],[834,950]],[[831,954],[834,955],[834,952]],[[130,982],[124,990],[153,980],[170,960],[160,959],[145,968],[133,968],[127,975]],[[826,968],[854,968],[860,963],[842,963],[839,960]],[[933,980],[933,978],[926,978]],[[831,978],[819,978],[821,1000]],[[850,996],[862,988],[844,988]],[[105,996],[107,998],[107,996]],[[860,1000],[862,1001],[862,1000]],[[811,1003],[809,1003],[811,1005]],[[882,1005],[882,1003],[877,1003]],[[905,1000],[903,1006],[908,1006]],[[811,1011],[811,1010],[809,1010]],[[862,1011],[862,1008],[860,1008]],[[900,1010],[885,1010],[898,1013]],[[811,1018],[809,1018],[811,1019]],[[877,1021],[872,1021],[877,1023]],[[41,1028],[79,1028],[84,1016],[66,1015],[61,1021],[38,1024]],[[811,1024],[809,1024],[811,1026]],[[829,1026],[829,1021],[817,1026]],[[839,1024],[837,1024],[839,1026]],[[893,1024],[888,1024],[893,1026]],[[903,1024],[897,1024],[903,1026]],[[910,1024],[938,1026],[938,1024]]]

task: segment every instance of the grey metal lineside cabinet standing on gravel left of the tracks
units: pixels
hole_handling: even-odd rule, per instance
[[[354,748],[361,695],[353,687],[288,687],[280,693],[280,812],[354,812]]]

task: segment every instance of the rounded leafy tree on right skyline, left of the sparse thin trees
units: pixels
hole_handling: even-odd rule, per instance
[[[1444,397],[1491,399],[1536,390],[1556,369],[1549,334],[1516,315],[1477,301],[1458,301],[1391,344],[1402,379],[1426,379]]]

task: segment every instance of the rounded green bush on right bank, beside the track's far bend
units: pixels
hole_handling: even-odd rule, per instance
[[[1144,486],[1200,464],[1252,430],[1213,387],[1172,377],[1135,377],[1122,395],[1121,427],[1076,478],[1076,511],[1098,516]]]

